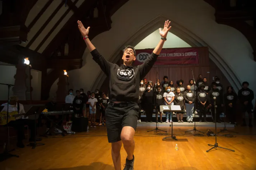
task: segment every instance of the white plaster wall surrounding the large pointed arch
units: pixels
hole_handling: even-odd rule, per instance
[[[129,0],[112,16],[111,30],[96,36],[92,43],[107,60],[113,61],[111,57],[118,54],[124,45],[135,46],[143,40],[146,36],[137,40],[134,39],[134,35],[139,37],[136,33],[143,32],[139,32],[141,29],[145,32],[146,29],[152,29],[149,26],[149,21],[157,22],[152,19],[162,15],[176,23],[172,24],[171,32],[178,35],[179,31],[183,31],[179,36],[187,38],[184,40],[188,44],[191,44],[190,40],[194,39],[200,41],[197,46],[200,44],[209,46],[211,59],[218,62],[217,65],[222,65],[221,70],[228,67],[228,71],[223,72],[229,81],[235,77],[238,77],[234,82],[236,85],[239,82],[248,81],[251,84],[250,88],[256,93],[256,87],[253,86],[256,84],[256,62],[253,61],[253,50],[250,43],[238,30],[227,25],[217,24],[214,13],[214,8],[202,0],[168,0],[164,3],[155,0]],[[179,30],[180,28],[182,30]],[[187,35],[181,34],[184,32]],[[158,42],[158,40],[155,41]],[[168,39],[167,41],[172,40]],[[125,44],[127,42],[129,44]],[[98,76],[103,72],[92,60],[88,49],[85,50],[83,60],[84,66],[81,69],[69,72],[70,78],[72,77],[73,80],[70,81],[70,84],[74,89],[79,87],[84,87],[85,90],[96,89],[100,84],[98,83],[94,87],[93,84],[98,81]],[[230,75],[228,76],[228,74]]]

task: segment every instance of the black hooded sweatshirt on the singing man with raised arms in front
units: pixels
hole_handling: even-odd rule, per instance
[[[157,61],[158,55],[152,53],[138,66],[126,66],[108,62],[97,49],[91,51],[93,60],[109,77],[109,99],[113,101],[138,102],[140,81],[148,74]]]

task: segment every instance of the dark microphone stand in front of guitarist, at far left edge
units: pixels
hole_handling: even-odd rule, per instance
[[[6,122],[7,122],[7,129],[8,129],[8,118],[9,118],[9,95],[10,95],[10,87],[11,86],[14,86],[13,84],[3,84],[3,83],[0,83],[2,85],[7,85],[8,86],[8,100],[7,100],[7,118],[6,118]],[[13,154],[10,154],[9,152],[11,151],[14,151],[15,149],[12,149],[10,151],[8,151],[8,148],[6,146],[6,142],[4,142],[4,152],[0,154],[0,162],[1,161],[4,161],[10,157],[19,157],[18,155],[13,155]]]

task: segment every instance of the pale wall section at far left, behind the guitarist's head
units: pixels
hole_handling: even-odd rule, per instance
[[[0,65],[0,83],[13,84],[14,85],[14,75],[16,74],[16,67],[1,62]],[[10,87],[10,96],[13,95],[12,87]],[[0,100],[8,99],[8,86],[0,85]]]

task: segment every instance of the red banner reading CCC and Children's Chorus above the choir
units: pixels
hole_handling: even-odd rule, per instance
[[[142,64],[154,49],[136,50],[134,65]],[[169,64],[198,64],[198,51],[196,48],[162,49],[155,65]]]

